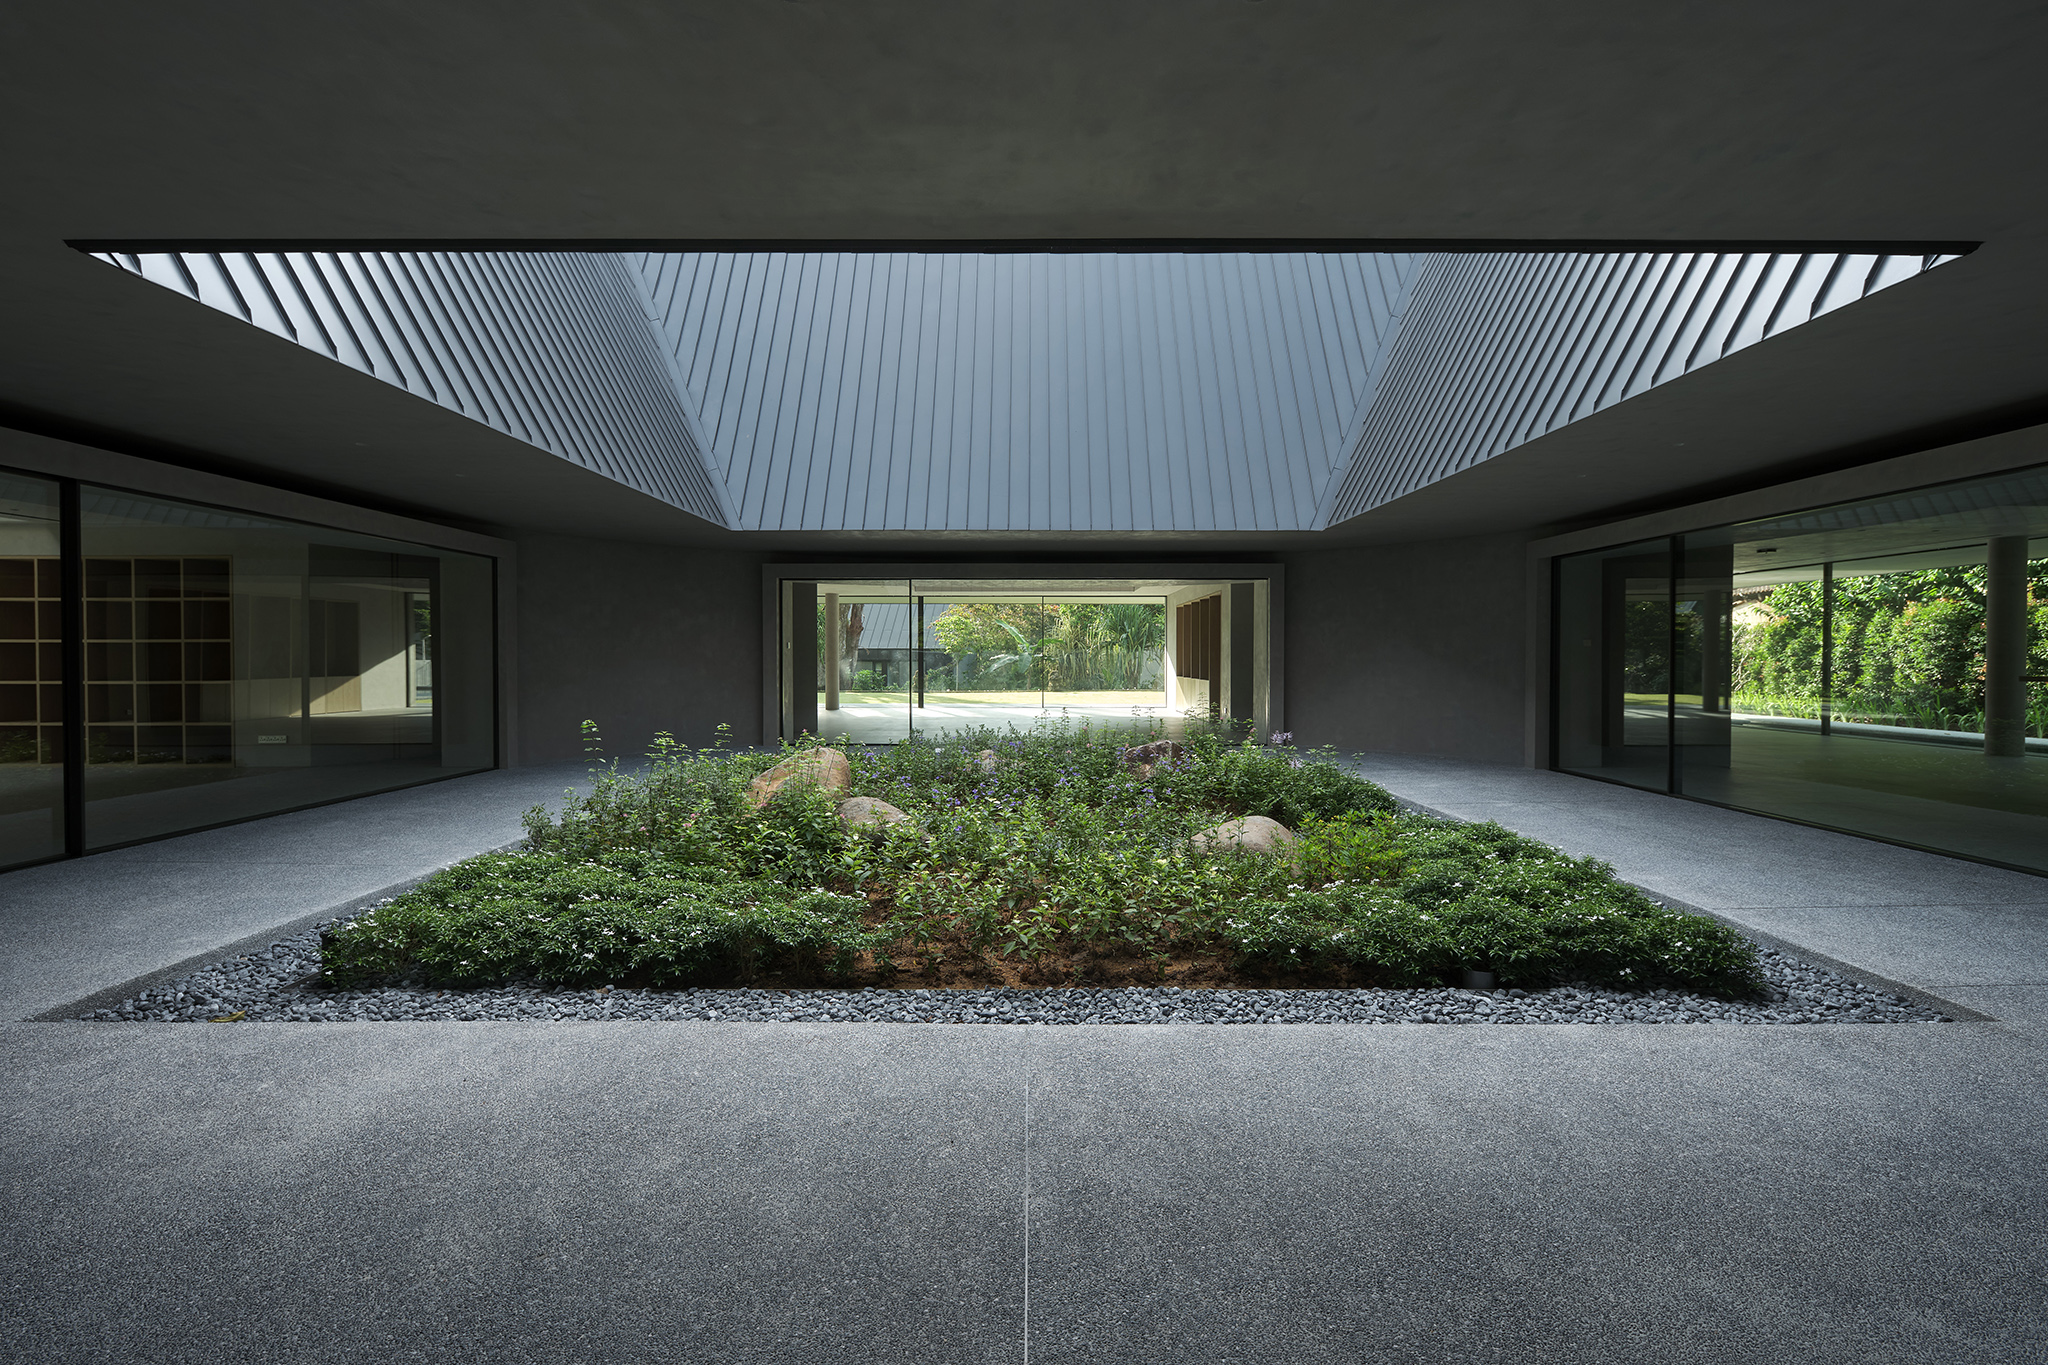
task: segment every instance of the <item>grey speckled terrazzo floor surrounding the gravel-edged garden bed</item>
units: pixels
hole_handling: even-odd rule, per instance
[[[1022,1361],[1026,1330],[1032,1361],[1176,1365],[2048,1353],[2044,882],[1362,761],[1999,1019],[0,1023],[0,1359]],[[426,808],[328,810],[362,866],[438,855]],[[184,864],[240,907],[217,921],[201,876],[88,860],[37,870],[68,919],[20,937],[29,874],[0,878],[35,948],[8,1017],[262,929],[307,837],[270,825]]]

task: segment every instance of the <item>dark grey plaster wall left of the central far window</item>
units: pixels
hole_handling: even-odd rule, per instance
[[[610,755],[659,731],[709,745],[719,722],[760,741],[758,555],[526,536],[518,540],[518,761],[582,757],[596,720]]]

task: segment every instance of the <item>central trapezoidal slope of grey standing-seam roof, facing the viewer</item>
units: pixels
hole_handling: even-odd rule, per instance
[[[1303,530],[1415,256],[633,258],[748,530]]]

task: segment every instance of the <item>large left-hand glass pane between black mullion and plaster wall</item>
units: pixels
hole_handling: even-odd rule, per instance
[[[82,503],[88,847],[494,763],[487,559]]]

